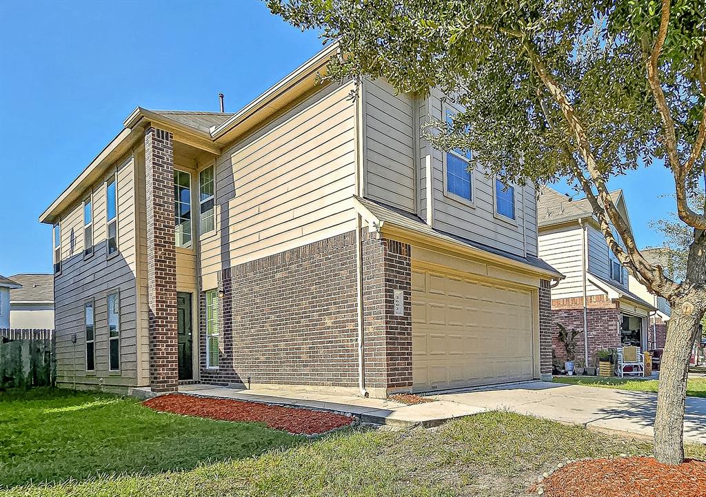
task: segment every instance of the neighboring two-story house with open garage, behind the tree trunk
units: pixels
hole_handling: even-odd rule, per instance
[[[611,198],[630,226],[623,192],[613,191]],[[558,359],[566,359],[566,352],[556,338],[556,323],[580,331],[577,357],[587,357],[588,365],[595,364],[598,349],[651,347],[647,318],[657,308],[630,288],[628,271],[608,248],[588,200],[571,201],[545,186],[540,191],[537,217],[539,256],[566,275],[551,289]]]

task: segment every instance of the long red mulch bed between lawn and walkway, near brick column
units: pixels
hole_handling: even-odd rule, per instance
[[[194,397],[179,393],[160,395],[160,397],[145,400],[143,405],[155,409],[155,411],[172,412],[185,416],[198,416],[219,419],[220,421],[265,423],[268,428],[289,431],[289,433],[297,435],[318,435],[353,423],[353,418],[333,412],[280,407],[242,400]]]

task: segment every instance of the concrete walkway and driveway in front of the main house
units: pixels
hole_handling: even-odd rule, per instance
[[[212,385],[184,385],[179,392],[344,412],[368,423],[426,428],[479,412],[506,410],[562,423],[582,424],[597,431],[629,433],[641,438],[651,438],[653,435],[652,424],[657,405],[657,395],[654,393],[542,381],[439,393],[431,396],[436,402],[418,405],[290,388],[238,390]],[[690,443],[706,443],[706,399],[687,397],[684,439]]]

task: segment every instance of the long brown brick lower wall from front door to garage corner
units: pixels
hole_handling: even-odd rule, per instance
[[[412,386],[409,245],[367,237],[364,253],[366,388]],[[206,368],[200,299],[201,381],[227,385],[358,385],[355,233],[222,270],[220,367]],[[405,316],[394,314],[394,290]]]

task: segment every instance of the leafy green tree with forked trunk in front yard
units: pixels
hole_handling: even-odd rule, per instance
[[[525,184],[569,176],[616,257],[673,309],[654,454],[683,460],[686,369],[706,312],[706,215],[688,198],[704,173],[703,0],[267,0],[337,42],[327,78],[384,77],[399,92],[440,88],[466,111],[432,122],[436,148],[474,151],[489,176]],[[638,251],[606,181],[662,162],[693,231],[683,282]],[[626,248],[611,232],[614,226]]]

